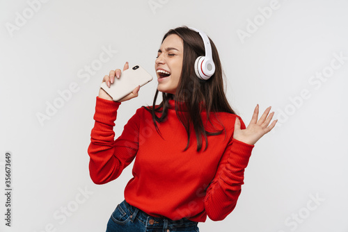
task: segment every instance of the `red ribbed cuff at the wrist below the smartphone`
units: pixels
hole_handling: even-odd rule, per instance
[[[110,101],[97,96],[95,104],[95,114],[93,119],[109,126],[115,126],[117,110],[120,106],[118,101]]]

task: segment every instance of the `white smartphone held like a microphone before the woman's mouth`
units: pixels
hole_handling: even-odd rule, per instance
[[[130,94],[136,86],[143,86],[150,81],[152,81],[151,74],[146,72],[140,65],[135,65],[121,72],[120,78],[115,76],[115,80],[110,85],[110,88],[106,85],[106,82],[103,82],[100,88],[105,90],[112,97],[113,101],[118,101]]]

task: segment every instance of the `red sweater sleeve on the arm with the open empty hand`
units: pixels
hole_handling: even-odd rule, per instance
[[[246,126],[242,119],[241,129]],[[214,221],[225,219],[234,210],[244,184],[244,169],[248,165],[254,145],[232,138],[220,160],[213,181],[205,195],[205,211]]]

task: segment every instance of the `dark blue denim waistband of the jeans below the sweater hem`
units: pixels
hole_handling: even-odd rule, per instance
[[[132,222],[134,222],[134,219],[139,219],[139,221],[141,221],[147,227],[171,229],[171,228],[177,228],[177,227],[189,227],[189,226],[198,225],[198,222],[190,221],[187,218],[172,220],[167,217],[150,216],[147,213],[140,210],[139,208],[136,208],[128,204],[126,200],[122,201],[120,205],[125,206],[125,208],[127,208],[127,210],[129,211],[128,213],[132,215],[132,218],[131,218]]]

